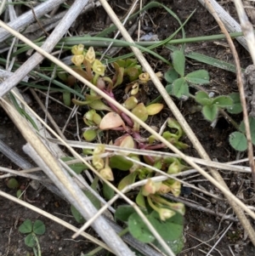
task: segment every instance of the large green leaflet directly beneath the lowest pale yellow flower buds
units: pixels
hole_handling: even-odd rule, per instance
[[[153,211],[148,219],[165,241],[177,240],[183,234],[184,217],[179,213],[175,213],[172,218],[166,221],[161,221],[159,214]]]

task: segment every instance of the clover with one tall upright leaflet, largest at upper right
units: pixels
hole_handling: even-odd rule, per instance
[[[189,98],[189,86],[209,83],[209,74],[205,70],[198,70],[184,75],[185,57],[180,50],[173,51],[172,54],[173,68],[168,70],[164,77],[167,80],[167,92],[178,99]]]

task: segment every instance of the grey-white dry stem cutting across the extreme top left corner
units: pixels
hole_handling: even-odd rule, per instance
[[[59,4],[64,3],[65,0],[48,0],[47,2],[39,4],[35,9],[34,13],[37,15],[37,18],[42,17],[43,14],[47,14],[49,11],[59,6]],[[25,14],[20,15],[20,17],[14,21],[8,23],[8,26],[12,27],[14,30],[19,30],[24,26],[31,24],[35,21],[34,14],[32,11],[28,11]],[[3,40],[7,39],[10,36],[8,31],[5,31],[0,28],[0,43]]]

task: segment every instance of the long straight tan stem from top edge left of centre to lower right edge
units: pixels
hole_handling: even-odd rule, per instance
[[[118,30],[121,31],[122,36],[127,40],[127,42],[133,43],[132,37],[129,36],[129,34],[127,33],[127,30],[122,26],[121,21],[117,18],[116,14],[111,9],[111,6],[109,5],[109,3],[107,3],[105,0],[100,0],[100,3],[104,7],[107,14],[111,17],[111,20],[116,25]],[[158,77],[156,77],[155,72],[152,70],[152,68],[149,65],[149,63],[147,62],[147,60],[145,60],[144,55],[139,51],[139,48],[135,48],[135,47],[131,47],[131,48],[133,50],[133,53],[136,55],[137,59],[139,60],[140,64],[143,65],[144,70],[150,74],[151,81],[154,82],[154,84],[156,85],[156,88],[158,89],[158,91],[161,94],[161,96],[163,97],[163,99],[166,101],[168,107],[170,108],[171,111],[173,111],[174,117],[176,117],[178,122],[181,124],[182,128],[184,129],[184,132],[187,134],[190,141],[195,146],[195,149],[198,151],[198,153],[200,154],[200,156],[202,158],[210,160],[210,157],[207,155],[207,152],[204,150],[201,143],[196,138],[196,136],[195,136],[194,132],[192,131],[192,129],[190,128],[189,124],[186,122],[186,120],[184,119],[184,117],[182,116],[180,111],[178,111],[177,106],[174,104],[173,100],[167,94],[166,89],[163,87],[163,85],[161,84]],[[184,155],[184,154],[182,154],[182,155]],[[181,156],[181,154],[179,154],[179,156]],[[197,170],[208,179],[208,177],[206,176],[207,174],[203,170],[201,170],[201,168],[197,168]],[[236,203],[230,199],[229,188],[225,184],[224,179],[221,177],[221,175],[218,173],[218,171],[215,169],[212,169],[212,168],[210,168],[210,171],[212,173],[212,176],[218,181],[218,183],[222,187],[224,187],[224,190],[222,190],[224,193],[224,196],[226,196],[228,198],[229,204],[234,209],[238,219],[240,219],[241,224],[243,225],[243,228],[246,230],[247,234],[249,235],[250,239],[252,240],[252,243],[255,245],[255,232],[252,229],[252,225],[249,223],[248,219],[246,219],[246,215],[243,213],[241,208],[239,208],[236,205]],[[212,179],[210,181],[212,182]],[[214,182],[213,182],[213,184],[215,185]]]

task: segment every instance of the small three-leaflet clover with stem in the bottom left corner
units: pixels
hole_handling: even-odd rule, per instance
[[[37,236],[42,236],[45,233],[45,225],[42,220],[36,220],[34,223],[31,219],[26,219],[19,227],[19,231],[22,234],[27,234],[25,237],[25,244],[28,247],[33,248],[33,252],[36,256],[41,256],[41,247]]]

